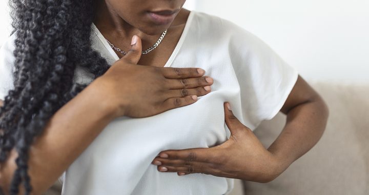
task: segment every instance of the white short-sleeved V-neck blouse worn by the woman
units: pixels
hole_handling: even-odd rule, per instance
[[[92,28],[93,48],[113,64],[118,56]],[[0,53],[0,99],[12,87],[13,40],[9,38]],[[254,130],[278,113],[298,77],[252,33],[196,11],[191,11],[165,67],[204,69],[214,79],[212,91],[189,106],[112,121],[66,170],[62,194],[227,194],[233,179],[201,173],[179,177],[159,172],[151,162],[162,150],[207,148],[226,141],[230,131],[223,102],[230,102],[235,116]],[[75,82],[91,81],[89,73],[76,70]]]

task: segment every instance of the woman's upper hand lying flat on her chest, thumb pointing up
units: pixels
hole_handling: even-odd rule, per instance
[[[197,96],[211,91],[210,85],[214,81],[202,76],[202,69],[199,73],[198,68],[137,65],[141,51],[141,40],[135,35],[130,51],[91,84],[104,95],[105,103],[113,109],[115,117],[156,115],[192,104]],[[210,83],[206,78],[210,78]]]

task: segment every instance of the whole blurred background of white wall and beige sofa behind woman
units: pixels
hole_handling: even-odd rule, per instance
[[[276,180],[236,180],[232,195],[369,194],[369,0],[187,0],[259,36],[319,92],[330,109],[321,140]],[[0,45],[10,34],[0,2]],[[281,113],[254,130],[268,148]],[[298,130],[298,129],[296,129]],[[55,184],[47,194],[60,194]]]

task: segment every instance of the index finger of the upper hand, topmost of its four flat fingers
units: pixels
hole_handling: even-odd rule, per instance
[[[160,67],[162,74],[167,79],[186,79],[191,77],[200,77],[205,71],[201,68],[172,68]]]

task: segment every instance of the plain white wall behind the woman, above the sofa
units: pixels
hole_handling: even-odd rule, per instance
[[[242,26],[309,81],[369,83],[368,0],[187,0],[186,8]],[[9,36],[0,3],[0,45]]]

